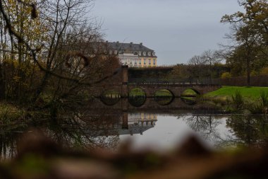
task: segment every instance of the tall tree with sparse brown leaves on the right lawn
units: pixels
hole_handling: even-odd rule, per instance
[[[252,64],[260,58],[267,61],[268,57],[268,3],[267,0],[240,0],[238,4],[245,8],[245,13],[225,15],[221,22],[232,24],[232,34],[228,37],[234,45],[230,46],[233,52],[229,59],[245,64],[242,67],[245,67],[250,86]]]

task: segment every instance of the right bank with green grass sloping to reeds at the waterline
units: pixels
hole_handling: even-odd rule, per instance
[[[202,99],[229,113],[267,114],[268,87],[223,86]]]

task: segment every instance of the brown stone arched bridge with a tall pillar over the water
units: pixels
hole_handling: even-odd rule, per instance
[[[116,80],[109,79],[98,86],[92,86],[90,93],[95,97],[100,97],[105,91],[117,91],[121,98],[128,98],[128,93],[133,90],[133,88],[141,88],[147,98],[152,98],[156,91],[166,89],[173,94],[173,97],[180,98],[183,91],[187,89],[192,89],[197,94],[202,95],[221,88],[221,86],[216,84],[198,83],[128,83],[127,66],[121,67],[120,72],[114,76],[114,79]]]

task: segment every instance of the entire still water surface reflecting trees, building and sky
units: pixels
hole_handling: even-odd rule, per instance
[[[172,150],[189,135],[197,136],[213,149],[262,146],[268,139],[264,115],[209,115],[196,112],[85,112],[72,117],[37,120],[1,127],[1,160],[16,156],[16,144],[23,133],[39,129],[68,149],[116,151],[130,141],[131,149]]]

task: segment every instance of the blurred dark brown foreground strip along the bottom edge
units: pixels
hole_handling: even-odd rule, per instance
[[[41,132],[25,134],[18,156],[1,164],[0,178],[267,178],[268,150],[209,151],[189,137],[172,154],[133,152],[129,144],[116,154],[63,150]]]

